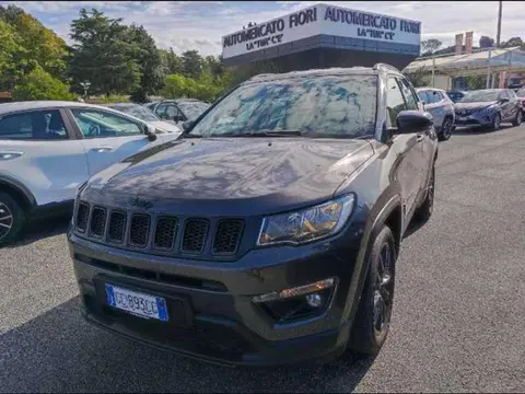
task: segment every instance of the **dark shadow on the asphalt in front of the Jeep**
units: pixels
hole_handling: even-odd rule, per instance
[[[89,325],[79,297],[0,337],[3,392],[351,392],[374,361],[218,367]]]

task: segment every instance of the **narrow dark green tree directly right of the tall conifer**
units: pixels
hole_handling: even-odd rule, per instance
[[[129,27],[129,39],[138,45],[135,60],[141,72],[140,86],[131,93],[131,100],[144,103],[148,95],[154,93],[162,83],[161,55],[154,39],[143,26],[131,25]]]

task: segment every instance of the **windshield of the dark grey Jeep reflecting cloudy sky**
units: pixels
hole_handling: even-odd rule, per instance
[[[376,76],[308,76],[242,85],[191,130],[205,137],[300,131],[357,138],[374,134]]]

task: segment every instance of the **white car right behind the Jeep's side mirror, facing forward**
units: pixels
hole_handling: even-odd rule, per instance
[[[445,91],[435,88],[416,89],[419,99],[423,103],[424,111],[430,113],[434,120],[440,141],[451,138],[454,130],[454,103]]]

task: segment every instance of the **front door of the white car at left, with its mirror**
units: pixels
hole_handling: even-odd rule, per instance
[[[90,176],[147,147],[173,139],[166,134],[150,141],[143,123],[104,109],[71,108],[70,114],[82,136]]]

